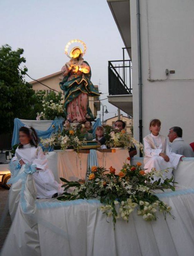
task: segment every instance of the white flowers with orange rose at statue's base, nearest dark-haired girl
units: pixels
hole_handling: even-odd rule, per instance
[[[73,148],[79,150],[83,145],[86,144],[84,135],[76,129],[68,131],[62,131],[62,133],[55,133],[50,138],[41,139],[41,143],[45,148],[48,147],[60,147],[62,150]]]

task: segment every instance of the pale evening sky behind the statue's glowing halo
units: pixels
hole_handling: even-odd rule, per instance
[[[108,60],[122,59],[124,44],[106,0],[1,0],[0,17],[0,45],[23,48],[28,74],[35,79],[60,71],[69,61],[64,54],[67,42],[85,42],[91,81],[96,85],[100,80],[100,99],[107,97]],[[108,100],[102,103],[112,112],[104,114],[104,119],[117,114]]]

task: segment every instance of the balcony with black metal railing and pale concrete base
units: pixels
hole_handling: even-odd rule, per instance
[[[108,102],[133,116],[132,62],[131,60],[108,61]]]

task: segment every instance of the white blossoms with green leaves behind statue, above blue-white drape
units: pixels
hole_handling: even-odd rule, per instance
[[[43,111],[37,112],[36,120],[54,120],[55,117],[64,117],[63,105],[61,104],[61,93],[56,95],[51,92],[49,95],[43,95]]]

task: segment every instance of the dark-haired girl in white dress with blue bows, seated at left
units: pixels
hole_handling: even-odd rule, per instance
[[[47,159],[42,148],[38,146],[38,136],[33,127],[23,126],[19,129],[19,145],[11,161],[18,160],[20,165],[36,164],[33,178],[37,190],[37,198],[52,198],[63,193],[62,184],[54,180],[53,173],[47,166]]]

